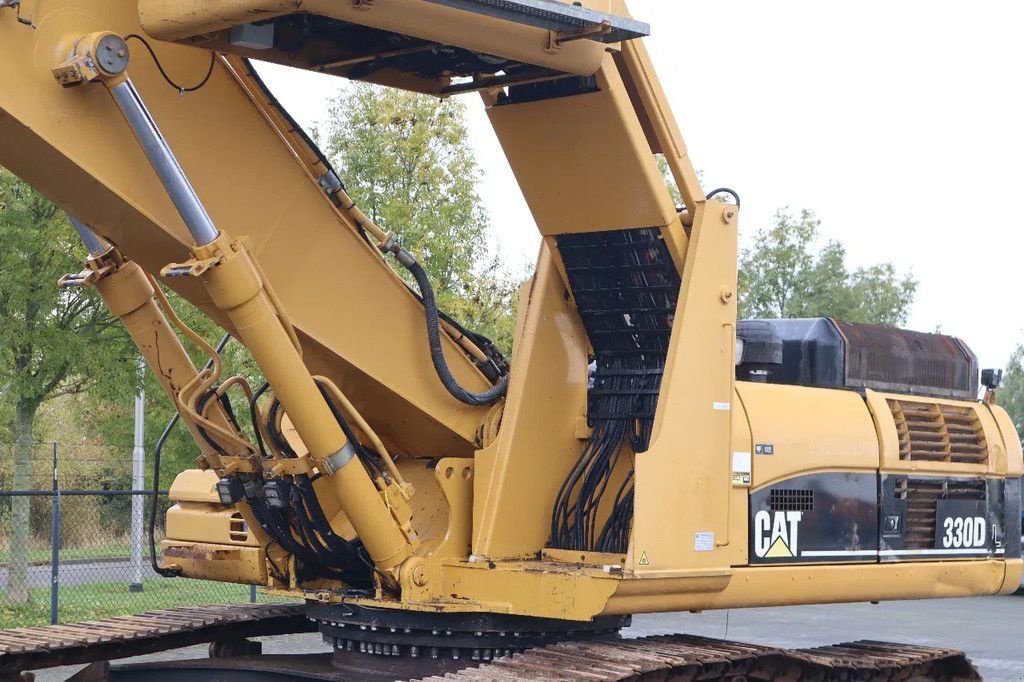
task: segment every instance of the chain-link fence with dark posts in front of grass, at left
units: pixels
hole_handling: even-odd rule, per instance
[[[154,572],[153,494],[132,489],[130,452],[56,443],[17,452],[0,444],[0,629],[258,598],[248,586]],[[164,491],[158,552],[169,506]]]

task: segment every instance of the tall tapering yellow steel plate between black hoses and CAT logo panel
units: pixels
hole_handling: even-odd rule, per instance
[[[746,544],[729,525],[737,226],[736,207],[697,204],[651,445],[636,458],[640,579],[727,568]]]

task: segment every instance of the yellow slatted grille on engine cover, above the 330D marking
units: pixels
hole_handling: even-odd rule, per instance
[[[987,464],[985,431],[972,406],[889,400],[901,460]]]

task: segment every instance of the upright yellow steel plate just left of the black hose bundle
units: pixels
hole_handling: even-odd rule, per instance
[[[544,548],[558,487],[583,449],[575,424],[586,416],[589,343],[555,257],[546,242],[520,303],[525,312],[502,427],[476,454],[473,553],[479,556],[522,557]]]

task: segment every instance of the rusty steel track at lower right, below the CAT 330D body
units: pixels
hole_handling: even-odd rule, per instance
[[[422,682],[783,680],[967,682],[981,676],[959,651],[885,642],[787,650],[672,635],[555,644]]]

